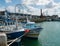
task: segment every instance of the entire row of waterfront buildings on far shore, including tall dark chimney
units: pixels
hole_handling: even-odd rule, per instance
[[[52,16],[47,16],[47,15],[44,15],[43,12],[42,12],[42,9],[40,10],[40,16],[38,15],[31,15],[31,14],[23,14],[23,13],[12,13],[12,12],[8,12],[7,11],[7,14],[8,15],[5,15],[6,11],[0,11],[0,22],[3,23],[3,19],[4,17],[8,17],[8,18],[11,18],[12,20],[15,20],[15,17],[18,16],[18,21],[21,22],[21,21],[26,21],[27,17],[29,20],[31,21],[35,21],[35,22],[41,22],[41,21],[55,21],[55,20],[59,20],[60,21],[60,18],[58,17],[58,15],[52,15]]]

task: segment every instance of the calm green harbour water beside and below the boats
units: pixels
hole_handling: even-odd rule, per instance
[[[60,46],[60,22],[42,22],[38,39],[24,38],[22,46]]]

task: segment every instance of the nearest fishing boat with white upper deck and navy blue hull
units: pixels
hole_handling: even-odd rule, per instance
[[[7,11],[6,11],[7,12]],[[6,14],[7,16],[7,14]],[[26,31],[21,25],[18,25],[17,17],[16,17],[16,22],[15,24],[10,24],[8,22],[8,17],[5,19],[5,22],[7,23],[6,25],[4,24],[3,26],[0,26],[0,32],[4,32],[7,35],[7,39],[16,39],[18,37],[23,37],[24,34],[26,34]]]

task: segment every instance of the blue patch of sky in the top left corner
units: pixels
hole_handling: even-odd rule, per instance
[[[0,0],[0,6],[9,6],[9,5],[16,5],[22,3],[22,0]]]

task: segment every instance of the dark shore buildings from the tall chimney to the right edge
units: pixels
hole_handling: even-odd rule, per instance
[[[42,20],[42,21],[60,21],[58,15],[52,15],[52,16],[43,15],[42,9],[40,11],[41,11],[40,20]]]

